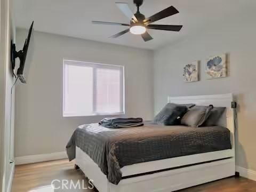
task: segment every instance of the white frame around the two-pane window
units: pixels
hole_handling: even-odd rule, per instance
[[[68,63],[67,63],[68,62]],[[96,84],[93,83],[93,97],[92,97],[92,106],[93,106],[93,111],[91,114],[89,115],[84,115],[84,114],[71,114],[68,113],[68,111],[65,111],[65,95],[66,95],[66,84],[65,83],[67,81],[67,78],[65,78],[67,75],[65,73],[67,73],[65,66],[66,65],[73,65],[73,66],[81,66],[84,65],[84,67],[92,67],[93,69],[93,81],[95,81],[95,77],[97,77],[95,75],[96,73],[96,68],[102,68],[102,69],[111,69],[114,68],[121,68],[121,73],[120,73],[120,98],[121,98],[121,103],[120,103],[120,111],[119,112],[114,112],[114,113],[98,113],[97,111],[95,111],[96,109],[96,100],[95,100],[95,86]],[[88,61],[76,61],[76,60],[69,60],[69,59],[63,59],[63,74],[62,74],[63,80],[62,80],[62,116],[63,117],[90,117],[90,116],[103,116],[103,115],[125,115],[125,67],[124,66],[120,66],[120,65],[109,65],[109,64],[103,64],[103,63],[95,63],[95,62],[88,62]]]

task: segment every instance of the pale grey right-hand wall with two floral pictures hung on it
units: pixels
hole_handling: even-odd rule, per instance
[[[154,52],[155,113],[167,95],[234,93],[238,102],[237,165],[256,171],[256,26],[255,12],[247,9],[209,23],[182,42]],[[186,26],[185,26],[186,27]],[[215,54],[229,54],[229,77],[207,80],[205,61]],[[201,81],[183,83],[183,66],[201,60]]]

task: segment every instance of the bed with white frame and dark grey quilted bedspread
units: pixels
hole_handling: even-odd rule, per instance
[[[109,153],[109,150],[106,149],[106,154],[110,154],[110,158],[112,158],[111,162],[114,163],[106,163],[100,159],[98,159],[98,161],[95,156],[99,156],[97,154],[97,150],[99,150],[97,148],[100,148],[99,145],[97,145],[97,148],[95,149],[89,149],[88,146],[92,145],[82,142],[83,139],[81,139],[76,143],[74,149],[76,165],[80,167],[87,178],[93,180],[94,186],[100,192],[128,192],[131,190],[174,191],[235,175],[234,111],[230,108],[231,101],[233,101],[233,95],[222,94],[191,97],[168,97],[167,101],[180,104],[212,104],[215,107],[226,107],[227,110],[220,118],[218,126],[200,129],[200,133],[196,132],[196,135],[199,135],[198,137],[201,139],[195,137],[195,133],[193,133],[194,136],[193,134],[190,134],[193,130],[190,130],[189,127],[172,127],[172,134],[169,134],[170,126],[155,127],[156,125],[150,124],[145,125],[145,127],[133,128],[133,133],[130,133],[128,130],[126,131],[126,129],[114,130],[116,138],[114,137],[113,141],[118,140],[118,143],[122,144],[116,145],[117,149],[114,151],[115,153],[113,153],[115,155],[112,154],[113,156]],[[87,126],[89,127],[86,127],[86,130],[89,130],[89,133],[87,132],[86,134],[90,135],[91,140],[97,142],[96,137],[94,138],[93,135],[96,134],[95,132],[98,132],[102,133],[102,141],[109,141],[108,139],[106,140],[106,135],[110,134],[111,130],[106,130],[103,127],[100,129],[93,127],[97,125]],[[83,130],[83,128],[84,127],[80,127],[81,130]],[[143,129],[141,135],[138,134],[139,129]],[[181,129],[183,132],[180,133],[178,130]],[[173,135],[173,133],[175,133],[174,130],[177,130],[177,133]],[[130,142],[128,139],[131,137],[130,134],[134,134],[134,132],[135,135],[138,135],[137,139],[146,142],[146,144],[144,143],[146,146],[150,145],[150,142],[157,142],[156,147],[154,145],[150,146],[150,150],[146,150],[146,153],[143,154],[142,157],[139,155],[142,151],[137,151],[137,154],[135,150],[129,150],[133,151],[131,154],[129,154],[128,150],[125,151],[127,154],[124,152],[121,153],[123,151],[121,149],[125,149],[123,148],[125,145],[134,145],[133,148],[135,148],[136,145],[140,145],[139,143]],[[172,136],[161,140],[157,140],[159,139],[157,137],[149,137],[150,134],[151,136],[158,135],[160,137],[163,135],[163,132],[165,132],[164,135],[167,134]],[[214,133],[212,135],[215,136],[211,137],[211,133]],[[113,133],[111,134],[113,135]],[[82,135],[82,138],[85,136],[83,133],[79,133],[79,135]],[[120,135],[123,135],[121,140],[117,139]],[[190,142],[184,142],[179,146],[177,143],[180,142],[175,141],[183,141],[184,135],[186,135],[187,140]],[[149,139],[148,141],[147,138],[154,139]],[[166,147],[166,145],[168,145],[166,140],[170,140],[170,138],[174,141],[169,147]],[[229,142],[227,142],[227,139]],[[192,145],[195,143],[195,140],[197,141],[196,144]],[[198,141],[201,143],[198,143]],[[175,150],[175,143],[179,150]],[[190,143],[192,144],[188,147],[189,150],[187,150],[186,147],[183,147],[184,145],[190,145]],[[206,147],[204,143],[207,143]],[[221,144],[218,145],[218,143]],[[104,142],[103,146],[106,146],[104,145]],[[171,146],[174,146],[174,148]],[[163,151],[167,151],[164,149],[165,147],[170,150],[170,153],[163,153]],[[120,149],[119,153],[118,149]],[[163,151],[161,151],[162,149]],[[106,151],[103,151],[103,154],[105,154]],[[156,159],[152,158],[152,153],[157,154],[156,156],[159,157]],[[115,160],[118,160],[118,165],[115,164]],[[107,171],[104,170],[104,166],[101,166],[104,164],[108,166]],[[110,170],[112,170],[113,173],[111,172],[110,174]]]

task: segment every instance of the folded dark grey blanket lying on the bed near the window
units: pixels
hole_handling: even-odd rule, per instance
[[[125,128],[125,127],[135,127],[142,126],[142,118],[104,118],[99,122],[99,125],[109,128]]]

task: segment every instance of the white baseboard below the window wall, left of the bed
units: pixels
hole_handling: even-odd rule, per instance
[[[15,157],[15,165],[39,163],[45,161],[53,161],[58,159],[65,159],[67,157],[66,151],[51,153],[51,154],[40,154],[40,155],[29,155],[23,157]]]

